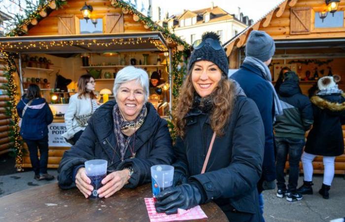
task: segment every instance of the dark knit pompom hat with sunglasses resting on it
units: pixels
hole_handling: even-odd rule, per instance
[[[217,48],[219,48],[219,50],[216,50],[211,46],[211,41],[213,43],[213,47],[216,46]],[[190,56],[188,63],[188,73],[192,69],[195,62],[207,60],[217,65],[218,68],[223,72],[223,74],[228,76],[228,58],[226,57],[224,48],[220,44],[219,36],[214,32],[207,32],[202,37],[202,43],[200,45],[202,44],[203,46],[201,48],[194,49],[192,55]]]

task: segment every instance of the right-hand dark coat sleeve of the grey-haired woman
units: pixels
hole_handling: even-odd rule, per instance
[[[117,170],[133,167],[133,174],[126,188],[134,188],[151,181],[151,166],[158,164],[170,165],[173,162],[172,138],[166,120],[159,120],[156,132],[152,133],[152,148],[147,158],[126,159],[118,165]]]

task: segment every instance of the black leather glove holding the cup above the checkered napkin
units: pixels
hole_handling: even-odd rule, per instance
[[[202,196],[199,188],[193,184],[183,184],[163,190],[156,196],[158,213],[176,214],[177,208],[190,209],[197,206]]]

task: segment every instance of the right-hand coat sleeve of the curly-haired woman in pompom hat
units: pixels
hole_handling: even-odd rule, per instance
[[[234,113],[233,113],[234,114]],[[264,125],[255,103],[246,99],[237,115],[230,165],[190,177],[203,186],[206,202],[244,195],[256,189],[262,173],[265,146]],[[217,139],[214,143],[217,143]],[[225,148],[225,147],[224,147]]]

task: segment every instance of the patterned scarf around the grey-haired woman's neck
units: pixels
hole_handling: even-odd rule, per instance
[[[117,147],[120,148],[121,153],[121,160],[124,160],[125,153],[127,148],[129,147],[130,140],[133,134],[140,128],[142,123],[144,122],[145,116],[147,114],[146,105],[142,106],[141,111],[139,112],[137,118],[133,121],[127,121],[123,118],[119,107],[115,104],[113,109],[113,119],[114,119],[114,132],[117,141]],[[127,138],[125,138],[125,136]],[[134,145],[133,145],[134,149]],[[132,155],[134,156],[134,150],[131,150]]]

